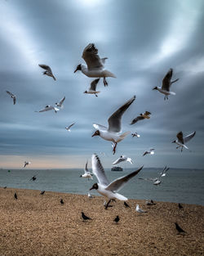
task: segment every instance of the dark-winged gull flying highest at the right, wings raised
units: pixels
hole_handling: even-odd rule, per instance
[[[157,90],[158,92],[161,92],[165,95],[164,100],[168,100],[169,95],[175,95],[175,92],[170,92],[170,87],[172,83],[175,83],[179,79],[175,79],[174,81],[171,82],[173,74],[173,69],[170,69],[167,74],[165,75],[164,79],[162,80],[162,88],[158,88],[157,86],[153,88],[153,90]]]

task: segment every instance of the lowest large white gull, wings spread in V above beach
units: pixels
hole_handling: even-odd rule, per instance
[[[143,168],[143,166],[140,167],[139,169],[137,169],[133,173],[130,173],[123,177],[118,177],[113,182],[109,182],[108,178],[106,177],[106,175],[104,173],[104,168],[103,168],[102,164],[100,163],[100,159],[99,159],[98,155],[95,155],[95,154],[92,155],[91,161],[92,161],[92,171],[95,174],[99,183],[95,183],[90,188],[90,191],[92,189],[95,189],[101,195],[108,197],[109,198],[109,202],[107,203],[108,205],[109,205],[110,201],[113,199],[126,201],[127,198],[124,195],[118,194],[117,191],[121,190],[122,186],[124,186],[126,184],[126,182],[128,182],[132,177],[135,177],[135,175],[137,175],[140,172],[140,170]]]

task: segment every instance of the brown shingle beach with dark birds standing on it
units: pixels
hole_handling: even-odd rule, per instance
[[[18,200],[14,199],[17,193]],[[60,204],[60,199],[64,204]],[[204,255],[204,206],[0,188],[0,255]],[[148,213],[135,212],[135,204]],[[82,222],[81,212],[92,220]],[[113,219],[119,215],[118,224]],[[178,235],[175,222],[186,231]]]

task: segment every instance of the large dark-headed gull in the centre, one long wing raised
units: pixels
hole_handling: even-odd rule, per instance
[[[104,127],[100,124],[93,124],[94,128],[96,129],[95,133],[92,135],[100,136],[106,141],[113,141],[113,154],[115,154],[116,146],[118,142],[122,141],[130,132],[124,132],[121,134],[122,131],[122,124],[121,119],[124,112],[127,110],[131,103],[135,101],[135,96],[131,97],[129,101],[126,101],[124,105],[122,105],[118,110],[116,110],[113,115],[111,115],[108,119],[109,128]]]

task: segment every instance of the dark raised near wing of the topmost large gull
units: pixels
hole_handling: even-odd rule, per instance
[[[99,69],[104,67],[104,61],[101,61],[100,56],[98,56],[98,49],[95,48],[94,43],[89,43],[82,53],[82,58],[86,61],[88,70]]]

